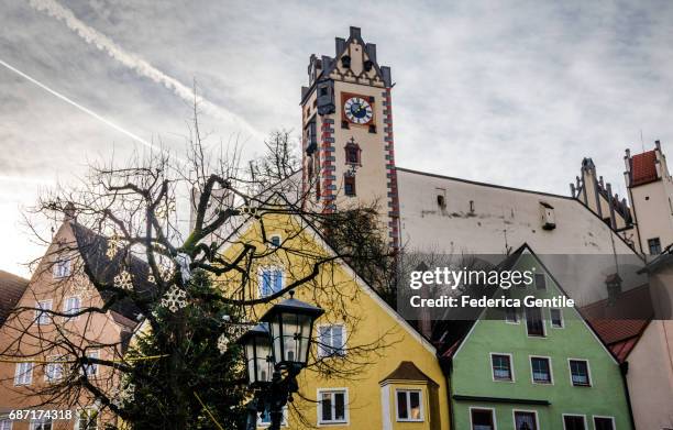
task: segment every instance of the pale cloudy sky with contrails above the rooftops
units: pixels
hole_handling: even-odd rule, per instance
[[[44,250],[23,216],[87,165],[300,129],[310,54],[362,27],[391,67],[397,165],[567,195],[582,158],[673,148],[673,2],[0,0],[0,269]],[[642,137],[641,137],[642,136]],[[46,227],[45,227],[46,228]]]

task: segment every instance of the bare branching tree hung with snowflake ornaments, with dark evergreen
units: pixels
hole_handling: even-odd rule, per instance
[[[371,208],[342,213],[305,205],[310,197],[293,181],[298,164],[288,132],[273,133],[267,154],[241,169],[235,148],[206,150],[197,106],[189,129],[186,161],[151,153],[122,166],[92,165],[78,187],[47,194],[34,208],[33,216],[66,222],[56,243],[44,239],[49,247],[36,262],[34,283],[48,279],[48,288],[35,293],[38,305],[15,309],[0,338],[0,359],[31,362],[53,379],[12,388],[30,406],[96,405],[89,418],[120,417],[143,429],[206,429],[216,421],[233,428],[250,395],[233,341],[260,305],[310,286],[315,302],[349,321],[351,335],[357,331],[357,319],[349,318],[357,291],[334,273],[344,258],[365,267],[387,255],[362,243],[375,240]],[[293,224],[273,243],[269,223],[288,214]],[[354,220],[347,232],[344,219]],[[245,222],[261,240],[238,235]],[[333,250],[306,243],[304,232],[313,227],[339,239]],[[260,297],[252,293],[256,271],[269,260],[286,267],[287,282]],[[85,298],[68,307],[73,294]],[[54,306],[40,305],[49,295]],[[309,371],[356,377],[395,341],[386,334],[350,345],[341,361],[315,355]]]

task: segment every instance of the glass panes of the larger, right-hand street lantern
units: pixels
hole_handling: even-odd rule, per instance
[[[313,318],[304,313],[279,312],[271,323],[274,357],[282,366],[308,362]]]

